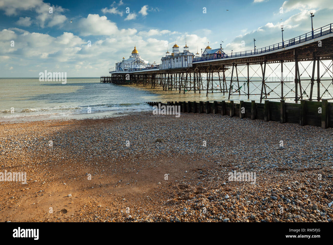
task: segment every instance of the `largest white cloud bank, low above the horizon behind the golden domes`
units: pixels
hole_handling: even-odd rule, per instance
[[[90,15],[87,18],[78,20],[78,32],[86,32],[87,34],[101,35],[104,30],[105,34],[111,34],[107,38],[97,41],[92,39],[91,46],[88,47],[87,41],[71,32],[52,37],[43,33],[30,33],[28,31],[11,28],[0,31],[0,46],[4,47],[0,50],[0,64],[11,63],[7,68],[3,68],[4,76],[11,76],[9,66],[17,67],[16,76],[36,76],[45,69],[50,71],[64,71],[67,76],[99,76],[106,75],[108,68],[114,67],[115,63],[122,57],[130,56],[134,45],[137,46],[140,54],[145,60],[151,63],[156,61],[160,63],[161,57],[166,52],[165,43],[171,41],[173,45],[174,37],[170,40],[160,40],[159,38],[148,37],[143,32],[139,35],[136,29],[118,29],[114,23],[107,20],[105,16]],[[100,29],[95,24],[102,25]],[[112,31],[110,31],[110,28]],[[85,29],[85,30],[83,30]],[[150,33],[154,31],[147,31]],[[86,34],[83,33],[83,34]],[[164,37],[165,35],[179,35],[176,37],[177,44],[183,47],[185,37],[187,38],[187,46],[190,51],[196,53],[196,46],[206,46],[207,38],[198,37],[197,35],[180,35],[177,32],[169,30],[157,30],[157,33]],[[17,38],[19,44],[15,42],[15,47],[10,47],[10,40]],[[6,39],[6,40],[4,40]],[[16,40],[16,39],[15,39]],[[169,48],[172,46],[170,43]],[[154,48],[152,48],[154,47]],[[105,54],[112,54],[106,56]],[[1,59],[1,57],[10,57]],[[34,62],[30,62],[33,60]],[[25,65],[24,65],[25,64]],[[1,67],[1,66],[0,66]],[[4,65],[2,66],[4,67]],[[7,72],[7,73],[6,73]]]

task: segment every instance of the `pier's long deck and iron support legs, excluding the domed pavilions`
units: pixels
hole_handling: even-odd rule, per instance
[[[277,81],[270,81],[272,77]],[[232,96],[250,99],[251,95],[260,95],[260,103],[265,99],[321,101],[324,95],[331,100],[332,24],[267,47],[194,59],[187,68],[110,72],[110,77],[101,77],[101,82],[162,87],[179,93],[223,93],[228,100]]]

